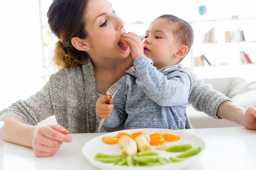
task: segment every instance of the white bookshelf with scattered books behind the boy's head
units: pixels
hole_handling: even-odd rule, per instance
[[[200,78],[239,76],[256,81],[256,76],[252,77],[256,72],[256,18],[198,20],[190,24],[195,36],[190,68],[195,74]]]

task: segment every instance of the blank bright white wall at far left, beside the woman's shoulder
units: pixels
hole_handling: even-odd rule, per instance
[[[0,1],[0,110],[43,84],[38,1]]]

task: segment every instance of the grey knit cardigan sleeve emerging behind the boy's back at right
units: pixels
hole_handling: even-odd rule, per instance
[[[211,84],[204,84],[202,79],[198,79],[196,74],[191,73],[192,90],[188,98],[188,103],[198,111],[203,111],[207,115],[221,119],[216,115],[220,103],[231,101],[227,96],[212,89]]]

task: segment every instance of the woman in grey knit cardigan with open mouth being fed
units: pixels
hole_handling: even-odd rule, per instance
[[[0,113],[5,122],[4,139],[32,147],[38,157],[52,156],[63,142],[71,142],[68,132],[95,132],[97,94],[105,95],[106,89],[133,65],[128,46],[120,44],[124,22],[107,0],[54,0],[47,16],[52,32],[59,38],[53,60],[62,69],[52,74],[35,95]],[[254,107],[245,110],[191,76],[189,103],[195,109],[256,129]],[[34,126],[52,115],[58,125]],[[189,121],[186,128],[191,128]]]

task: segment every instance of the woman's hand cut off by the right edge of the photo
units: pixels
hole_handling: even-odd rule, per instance
[[[242,125],[247,129],[256,130],[256,108],[249,106],[243,115]]]

